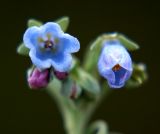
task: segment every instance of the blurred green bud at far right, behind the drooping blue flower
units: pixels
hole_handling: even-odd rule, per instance
[[[127,88],[136,88],[141,86],[148,79],[146,72],[146,66],[142,63],[133,64],[133,74],[131,78],[126,82]]]

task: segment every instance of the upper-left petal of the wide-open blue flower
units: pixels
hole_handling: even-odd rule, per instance
[[[38,36],[40,35],[39,27],[33,26],[28,28],[23,36],[23,42],[29,49],[34,48],[38,43]]]

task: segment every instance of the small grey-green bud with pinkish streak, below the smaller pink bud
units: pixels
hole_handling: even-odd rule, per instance
[[[63,81],[63,85],[61,88],[62,95],[71,99],[77,99],[81,94],[81,91],[82,89],[80,88],[80,86],[70,77]]]

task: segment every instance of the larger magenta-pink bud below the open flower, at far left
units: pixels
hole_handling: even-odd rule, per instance
[[[40,71],[37,68],[33,70],[28,77],[28,84],[32,89],[38,89],[46,87],[49,83],[49,70]]]

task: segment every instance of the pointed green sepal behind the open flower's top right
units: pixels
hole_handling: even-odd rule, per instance
[[[58,23],[61,26],[62,30],[65,32],[69,25],[69,17],[64,16],[55,22]]]

